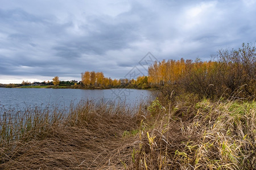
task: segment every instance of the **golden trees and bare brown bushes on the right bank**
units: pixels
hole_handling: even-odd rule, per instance
[[[148,68],[150,86],[162,88],[171,97],[174,91],[193,93],[200,98],[255,98],[255,46],[242,44],[238,50],[219,50],[213,61],[163,60]],[[174,94],[172,93],[172,94]]]

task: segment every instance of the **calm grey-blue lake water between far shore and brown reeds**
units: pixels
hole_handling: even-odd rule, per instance
[[[28,107],[69,107],[80,100],[93,100],[96,103],[113,104],[125,102],[131,107],[151,98],[150,90],[108,89],[80,90],[53,88],[0,88],[0,107],[24,109]]]

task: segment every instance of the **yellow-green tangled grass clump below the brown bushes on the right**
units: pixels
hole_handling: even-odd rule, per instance
[[[256,169],[255,105],[176,105],[142,131],[129,169]]]

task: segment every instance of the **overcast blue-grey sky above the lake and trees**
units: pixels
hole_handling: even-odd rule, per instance
[[[256,40],[254,0],[0,4],[0,83],[80,80],[93,70],[123,78],[143,70],[139,61],[148,52],[159,61],[209,60],[218,49]]]

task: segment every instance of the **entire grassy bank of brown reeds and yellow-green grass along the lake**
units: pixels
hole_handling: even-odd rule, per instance
[[[133,111],[81,101],[65,115],[2,107],[0,169],[255,169],[255,107],[158,99]]]

